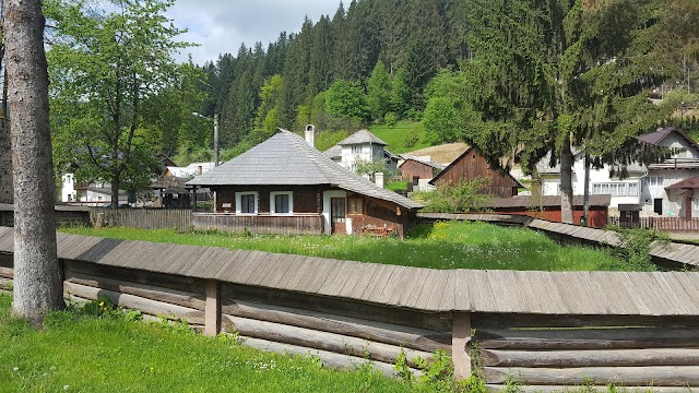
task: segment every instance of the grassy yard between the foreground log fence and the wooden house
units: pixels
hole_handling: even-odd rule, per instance
[[[545,235],[531,229],[469,222],[423,225],[411,231],[405,241],[360,236],[177,234],[175,230],[127,228],[61,230],[118,239],[228,247],[433,269],[630,270],[609,250],[560,247]]]

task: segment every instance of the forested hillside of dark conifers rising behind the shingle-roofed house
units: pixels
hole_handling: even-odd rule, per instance
[[[206,63],[205,112],[222,114],[222,145],[252,130],[355,130],[372,121],[419,118],[437,71],[470,56],[463,0],[362,0],[306,20]],[[387,116],[388,115],[388,116]]]

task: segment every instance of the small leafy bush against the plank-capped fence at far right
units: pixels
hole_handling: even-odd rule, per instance
[[[670,242],[667,234],[656,229],[624,228],[618,225],[609,225],[606,229],[614,230],[619,236],[620,247],[616,249],[618,257],[639,272],[655,271],[657,267],[652,262],[651,248]]]

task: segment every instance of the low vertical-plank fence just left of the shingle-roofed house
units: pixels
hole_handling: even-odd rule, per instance
[[[90,210],[93,227],[126,227],[139,229],[177,229],[188,231],[192,225],[191,210],[102,209]]]

